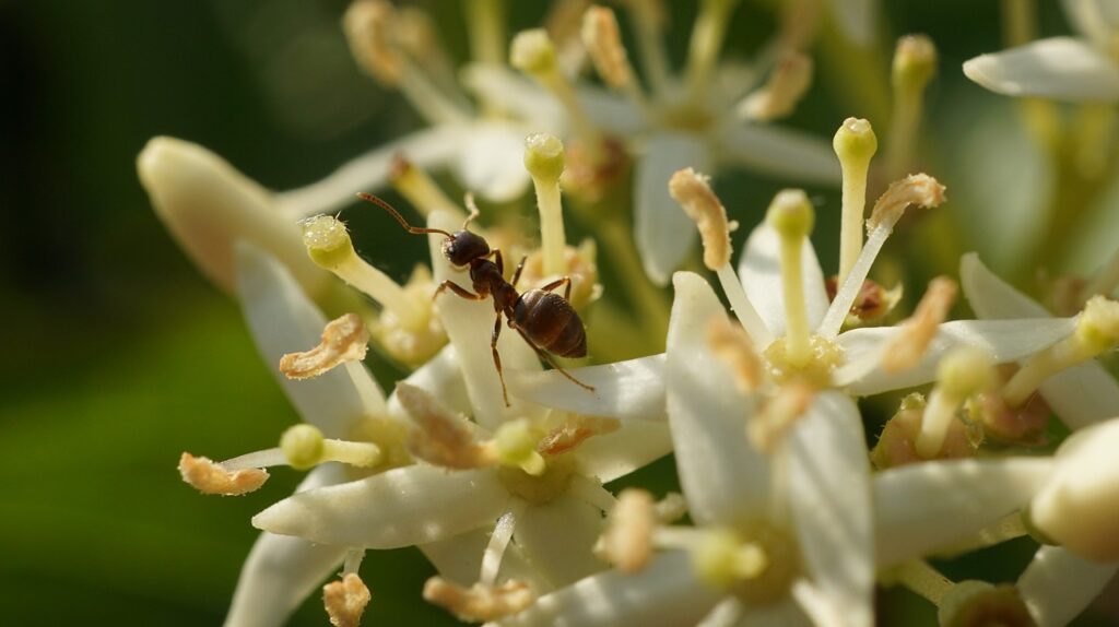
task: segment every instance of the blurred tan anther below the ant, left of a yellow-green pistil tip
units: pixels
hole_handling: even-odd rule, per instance
[[[408,433],[408,452],[443,468],[482,468],[497,464],[493,447],[477,440],[469,422],[443,407],[422,388],[396,383],[396,399],[416,428]]]

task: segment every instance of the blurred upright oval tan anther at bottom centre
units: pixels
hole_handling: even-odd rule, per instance
[[[652,532],[658,522],[651,494],[623,490],[602,534],[602,555],[622,572],[640,571],[652,555]]]

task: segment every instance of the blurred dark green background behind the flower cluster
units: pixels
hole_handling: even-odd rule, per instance
[[[997,2],[883,3],[886,31],[927,32],[941,50],[930,163],[952,171],[972,115],[1004,118],[1016,132],[1005,122],[1010,104],[958,69],[1002,47]],[[424,4],[462,58],[459,3]],[[515,4],[513,28],[544,12],[543,3]],[[730,54],[758,47],[772,27],[767,11],[747,4]],[[1066,31],[1056,3],[1043,4],[1042,34]],[[674,7],[679,59],[694,8]],[[0,2],[0,624],[220,623],[256,535],[250,516],[299,476],[281,469],[250,496],[204,497],[179,481],[178,455],[223,458],[271,446],[298,418],[235,304],[154,218],[134,159],[149,137],[175,135],[284,189],[416,127],[397,95],[355,68],[338,28],[344,9],[341,0]],[[830,136],[843,117],[861,114],[838,93],[821,80],[789,123]],[[749,175],[720,181],[745,226],[778,187]],[[812,191],[838,207],[833,191]],[[351,217],[366,246],[385,250],[375,262],[393,274],[403,277],[424,254],[392,226]],[[837,211],[821,210],[814,239],[826,267],[835,264],[837,224]],[[984,239],[961,237],[971,238],[963,247]],[[643,477],[664,487],[670,468],[666,460]],[[1009,543],[970,563],[1008,580],[1031,550]],[[453,624],[419,600],[429,574],[414,550],[370,553],[367,624]],[[887,593],[883,624],[932,619],[908,600]],[[1082,624],[1109,624],[1104,616]],[[325,625],[319,600],[293,624]]]

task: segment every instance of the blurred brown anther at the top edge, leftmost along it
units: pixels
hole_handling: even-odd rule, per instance
[[[386,85],[396,85],[404,61],[392,42],[395,16],[384,0],[355,0],[342,16],[342,30],[358,66]]]

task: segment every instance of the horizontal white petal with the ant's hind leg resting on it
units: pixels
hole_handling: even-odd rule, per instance
[[[509,393],[525,400],[584,416],[620,420],[667,419],[664,353],[567,372],[593,387],[594,391],[586,391],[555,370],[506,370],[505,382]]]

